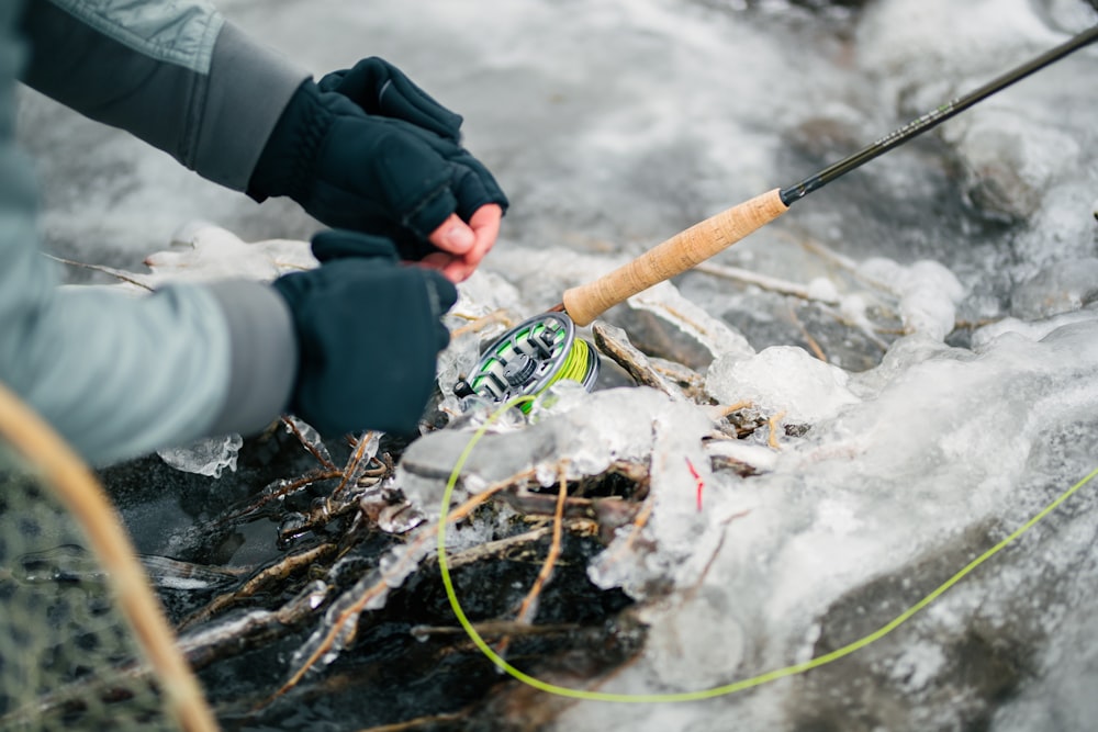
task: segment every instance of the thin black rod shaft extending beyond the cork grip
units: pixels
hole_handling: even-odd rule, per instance
[[[1006,89],[1016,81],[1024,79],[1034,71],[1043,69],[1045,66],[1060,60],[1064,56],[1067,56],[1068,54],[1078,50],[1083,46],[1094,43],[1095,41],[1098,41],[1098,25],[1079,33],[1069,41],[1041,54],[1031,61],[1022,64],[1018,68],[1007,71],[1002,76],[988,81],[979,89],[976,89],[964,97],[959,97],[950,102],[946,102],[933,111],[908,122],[899,129],[882,137],[877,142],[862,148],[858,153],[828,166],[818,173],[809,176],[796,185],[782,189],[780,193],[782,196],[782,203],[788,206],[795,201],[799,201],[813,191],[824,188],[836,178],[844,176],[854,168],[865,165],[873,158],[884,155],[888,150],[903,145],[917,135],[921,135],[931,127],[949,120],[953,115],[964,112],[976,102],[987,99],[995,92]]]

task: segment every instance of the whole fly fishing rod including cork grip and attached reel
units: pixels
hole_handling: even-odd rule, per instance
[[[1098,25],[979,89],[942,104],[795,185],[774,189],[735,205],[676,234],[613,272],[567,290],[562,303],[525,320],[489,346],[469,376],[458,382],[455,394],[461,397],[477,394],[502,404],[516,396],[540,394],[563,379],[580,382],[590,391],[598,375],[598,357],[576,337],[576,325],[589,325],[612,306],[685,272],[774,221],[813,191],[1096,40]],[[529,405],[525,407],[528,408]]]

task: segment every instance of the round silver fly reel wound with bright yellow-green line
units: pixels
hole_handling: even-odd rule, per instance
[[[502,404],[516,396],[534,396],[569,379],[589,392],[598,378],[598,354],[575,337],[575,324],[561,313],[542,313],[519,323],[485,349],[468,379],[458,382],[457,396],[475,394]],[[530,404],[522,407],[528,412]]]

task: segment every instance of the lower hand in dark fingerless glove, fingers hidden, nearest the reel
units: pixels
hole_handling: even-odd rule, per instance
[[[383,237],[322,232],[313,254],[320,267],[272,285],[298,336],[290,410],[325,437],[414,435],[450,339],[440,318],[457,290],[438,272],[401,266]]]

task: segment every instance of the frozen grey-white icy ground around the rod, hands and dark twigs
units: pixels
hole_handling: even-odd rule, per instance
[[[222,4],[317,72],[385,56],[466,115],[512,211],[458,309],[524,315],[1098,22],[1074,0]],[[675,334],[649,350],[688,352],[715,402],[749,401],[781,428],[776,447],[766,429],[703,441],[710,412],[618,385],[613,370],[613,388],[539,425],[578,473],[651,461],[650,551],[590,573],[638,598],[673,592],[648,608],[641,657],[600,690],[712,688],[841,647],[1098,468],[1096,74],[1098,47],[1079,52],[712,262],[799,295],[697,271],[607,314],[629,335]],[[245,241],[316,227],[41,99],[23,119],[64,257],[138,272],[188,221]],[[233,243],[214,229],[181,238],[203,230]],[[448,439],[412,450],[445,463]],[[494,439],[502,451],[474,458],[471,475],[524,459],[518,433]],[[713,468],[721,457],[757,474]],[[430,510],[439,481],[404,480]],[[581,701],[553,729],[1090,729],[1096,495],[1098,482],[833,665],[707,701]],[[165,553],[163,532],[133,528]]]

